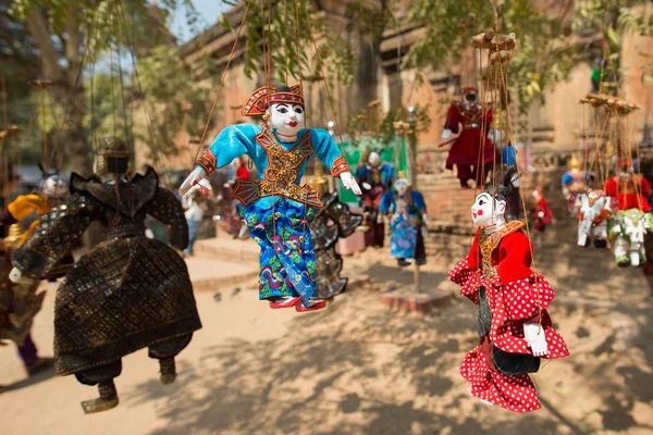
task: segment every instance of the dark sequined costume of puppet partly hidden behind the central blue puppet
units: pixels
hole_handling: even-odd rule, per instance
[[[362,216],[353,214],[347,204],[338,201],[336,192],[323,198],[322,208],[310,222],[317,265],[316,299],[332,299],[345,291],[347,278],[340,275],[343,259],[335,251],[341,237],[350,236],[362,222]]]

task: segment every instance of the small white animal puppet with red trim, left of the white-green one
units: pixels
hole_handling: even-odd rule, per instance
[[[571,200],[570,211],[578,217],[578,246],[587,248],[593,240],[596,248],[607,248],[607,222],[618,210],[616,199],[603,190],[588,189]]]

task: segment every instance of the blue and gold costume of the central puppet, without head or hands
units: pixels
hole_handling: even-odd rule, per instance
[[[300,296],[307,304],[316,295],[309,222],[322,202],[310,186],[299,182],[313,156],[333,176],[349,167],[325,130],[301,129],[296,141],[284,142],[268,126],[256,124],[226,127],[198,164],[210,175],[243,154],[254,162],[259,179],[237,179],[233,196],[241,201],[241,219],[261,248],[259,297]]]

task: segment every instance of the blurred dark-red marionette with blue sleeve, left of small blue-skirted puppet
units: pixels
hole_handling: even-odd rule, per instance
[[[383,215],[379,213],[379,204],[383,194],[391,189],[394,181],[394,166],[381,162],[381,156],[370,152],[367,163],[358,170],[358,184],[362,187],[362,203],[366,213],[365,225],[369,228],[366,233],[366,246],[382,248],[385,239],[385,224]]]

